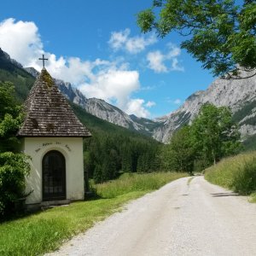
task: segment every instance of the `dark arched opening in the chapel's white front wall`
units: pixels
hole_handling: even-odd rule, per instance
[[[43,201],[66,199],[66,161],[61,152],[52,150],[43,158]]]

